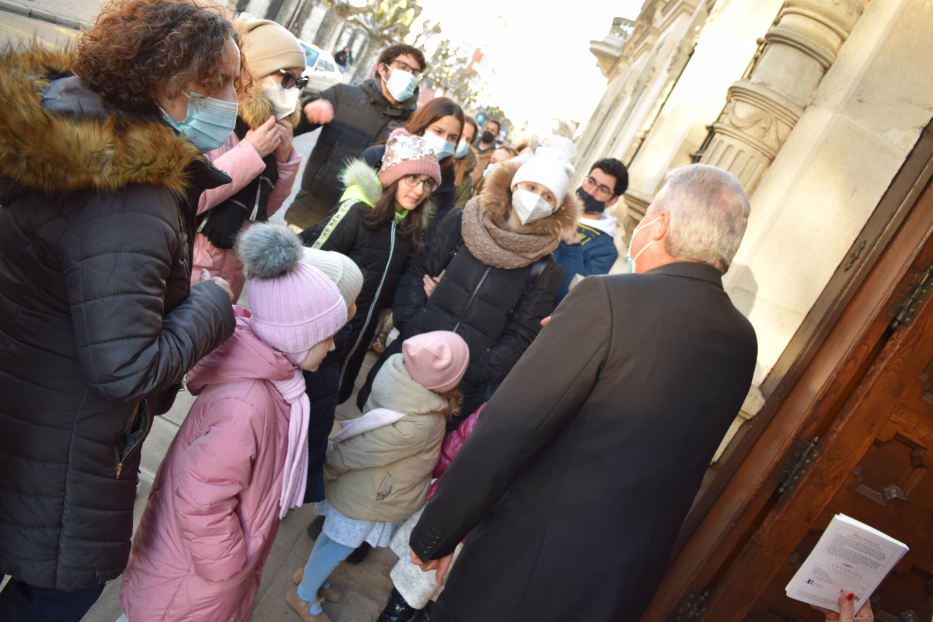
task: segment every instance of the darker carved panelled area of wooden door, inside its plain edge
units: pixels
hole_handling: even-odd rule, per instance
[[[876,400],[875,408],[884,422],[868,450],[745,615],[748,622],[815,620],[814,611],[788,599],[784,587],[837,513],[868,523],[911,547],[875,592],[875,619],[928,622],[933,618],[933,452],[929,450],[933,448],[933,305],[926,304],[917,323],[912,339],[903,344],[902,356],[892,360],[885,373],[913,370],[918,363],[921,371],[903,391],[883,393],[884,398]]]

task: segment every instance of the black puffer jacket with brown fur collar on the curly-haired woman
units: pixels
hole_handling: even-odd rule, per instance
[[[0,573],[66,590],[122,572],[152,417],[234,326],[215,283],[188,291],[191,182],[230,177],[160,119],[49,85],[73,63],[0,57]]]

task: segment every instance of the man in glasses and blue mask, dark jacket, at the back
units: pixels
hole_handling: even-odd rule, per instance
[[[304,116],[295,134],[322,128],[285,220],[301,229],[322,220],[340,200],[337,176],[347,159],[386,138],[418,104],[418,78],[425,55],[398,44],[379,57],[376,73],[359,85],[337,84],[301,101]]]

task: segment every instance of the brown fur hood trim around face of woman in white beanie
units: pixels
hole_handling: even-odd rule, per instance
[[[499,228],[508,228],[508,214],[512,210],[512,190],[511,182],[515,172],[522,166],[522,162],[513,162],[507,160],[498,164],[492,173],[482,184],[482,191],[479,195],[480,211],[489,214],[492,221]],[[531,233],[542,235],[550,232],[560,242],[561,231],[564,228],[575,225],[580,212],[583,211],[582,204],[573,192],[567,192],[564,202],[561,203],[557,212],[547,218],[536,220],[533,223],[522,225],[514,229],[516,233]],[[557,244],[554,245],[557,247]]]

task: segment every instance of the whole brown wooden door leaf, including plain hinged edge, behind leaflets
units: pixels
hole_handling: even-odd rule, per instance
[[[928,246],[918,256],[927,269],[917,277],[926,273],[927,291],[933,282]],[[819,619],[788,599],[784,587],[837,513],[911,547],[873,596],[875,619],[933,617],[933,303],[922,303],[909,325],[889,330],[884,351],[829,424],[829,441],[816,444],[812,471],[759,523],[704,620]]]

